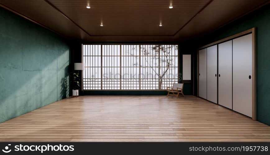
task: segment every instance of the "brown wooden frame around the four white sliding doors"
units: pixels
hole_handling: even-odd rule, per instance
[[[217,45],[217,44],[220,44],[220,43],[232,40],[232,39],[236,39],[247,34],[252,34],[252,77],[253,77],[252,78],[252,119],[256,121],[257,120],[257,113],[256,113],[257,112],[257,100],[256,100],[257,67],[256,67],[256,28],[255,27],[249,30],[240,32],[238,34],[229,36],[227,38],[218,40],[216,42],[209,43],[197,49],[197,97],[199,97],[199,50],[208,48],[210,46]],[[217,105],[219,104],[217,103]]]

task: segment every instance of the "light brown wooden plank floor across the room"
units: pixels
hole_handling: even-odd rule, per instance
[[[81,96],[1,123],[0,141],[270,142],[270,126],[194,96]]]

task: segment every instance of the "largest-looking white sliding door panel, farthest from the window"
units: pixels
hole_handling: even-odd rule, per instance
[[[233,39],[233,110],[252,117],[252,34]]]

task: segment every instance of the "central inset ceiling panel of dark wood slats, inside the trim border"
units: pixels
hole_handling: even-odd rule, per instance
[[[91,0],[91,9],[83,0],[49,2],[92,36],[172,36],[210,0],[175,1],[173,9],[168,0]]]

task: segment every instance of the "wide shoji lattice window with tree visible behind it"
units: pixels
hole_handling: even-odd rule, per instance
[[[84,90],[162,90],[178,83],[178,46],[83,45]]]

